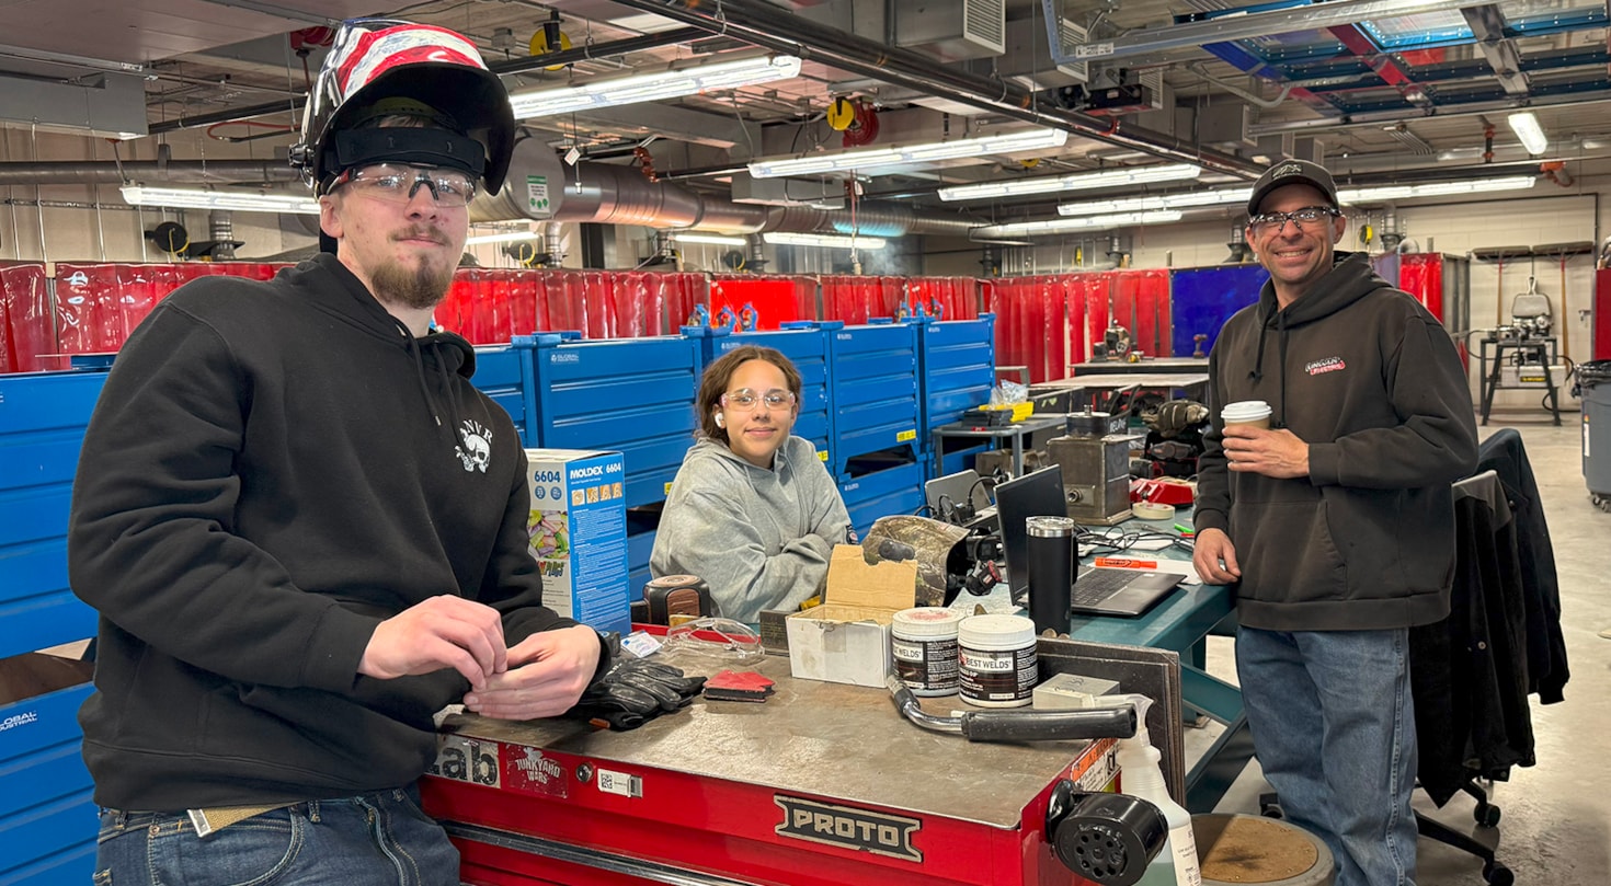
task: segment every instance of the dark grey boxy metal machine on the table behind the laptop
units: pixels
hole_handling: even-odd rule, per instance
[[[1129,449],[1144,440],[1128,433],[1124,416],[1070,412],[1068,433],[1046,443],[1063,469],[1068,515],[1078,524],[1113,525],[1129,519]]]

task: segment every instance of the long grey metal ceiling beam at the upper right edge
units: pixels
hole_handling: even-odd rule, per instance
[[[1075,47],[1075,55],[1071,58],[1075,61],[1105,61],[1110,58],[1128,58],[1133,55],[1181,47],[1202,47],[1228,40],[1268,37],[1271,34],[1290,34],[1294,31],[1316,31],[1321,27],[1353,24],[1373,18],[1461,10],[1492,2],[1493,0],[1477,0],[1477,3],[1472,3],[1472,0],[1331,0],[1329,3],[1305,3],[1302,6],[1289,6],[1263,13],[1242,13],[1205,21],[1144,27],[1131,31],[1129,34],[1113,40],[1099,40]]]

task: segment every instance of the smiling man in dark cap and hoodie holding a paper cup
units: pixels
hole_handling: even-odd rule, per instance
[[[1331,847],[1337,886],[1411,886],[1408,628],[1448,614],[1471,391],[1439,321],[1332,251],[1326,169],[1271,166],[1247,213],[1269,282],[1208,358],[1194,562],[1236,585],[1242,699],[1282,810]],[[1245,400],[1271,404],[1269,429],[1223,424]]]

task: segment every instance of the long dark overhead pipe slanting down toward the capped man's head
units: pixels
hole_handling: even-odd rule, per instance
[[[954,71],[921,53],[886,47],[836,27],[788,14],[765,0],[615,0],[622,6],[677,19],[773,52],[822,61],[928,95],[994,111],[1013,119],[1063,129],[1086,139],[1120,145],[1157,158],[1187,161],[1252,179],[1263,168],[1250,159],[1192,142],[1063,108],[1039,108],[1033,92],[1004,81]]]

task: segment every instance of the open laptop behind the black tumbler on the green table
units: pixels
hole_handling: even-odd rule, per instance
[[[1007,582],[1013,598],[1028,593],[1029,517],[1066,517],[1063,469],[1050,466],[996,486],[996,511],[1000,520],[1002,553],[1007,557]],[[1079,570],[1070,588],[1070,609],[1078,615],[1137,617],[1170,596],[1186,578],[1181,572],[1102,569]]]

